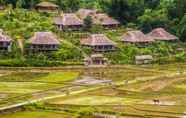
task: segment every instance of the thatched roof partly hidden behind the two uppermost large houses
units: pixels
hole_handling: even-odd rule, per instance
[[[97,11],[94,9],[79,9],[77,15],[81,19],[85,19],[87,16],[93,16],[94,14],[96,14],[96,12]]]

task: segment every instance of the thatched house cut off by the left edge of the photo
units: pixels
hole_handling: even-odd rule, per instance
[[[3,33],[0,29],[0,50],[11,51],[11,38]]]

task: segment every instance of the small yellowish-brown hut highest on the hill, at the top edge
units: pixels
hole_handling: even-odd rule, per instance
[[[36,9],[39,12],[57,13],[59,6],[51,2],[40,2],[36,5]]]

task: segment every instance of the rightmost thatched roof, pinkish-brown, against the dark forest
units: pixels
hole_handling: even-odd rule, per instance
[[[152,37],[155,40],[177,40],[178,37],[170,34],[169,32],[167,32],[165,29],[163,28],[156,28],[154,30],[152,30],[152,32],[150,32],[149,34],[147,34],[147,36]]]

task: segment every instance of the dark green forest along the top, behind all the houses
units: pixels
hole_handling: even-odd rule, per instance
[[[1,4],[33,8],[44,0],[0,0]],[[45,0],[46,1],[46,0]],[[186,38],[186,0],[48,0],[65,12],[79,8],[96,8],[108,12],[125,25],[138,27],[145,32],[164,27],[181,40]]]

